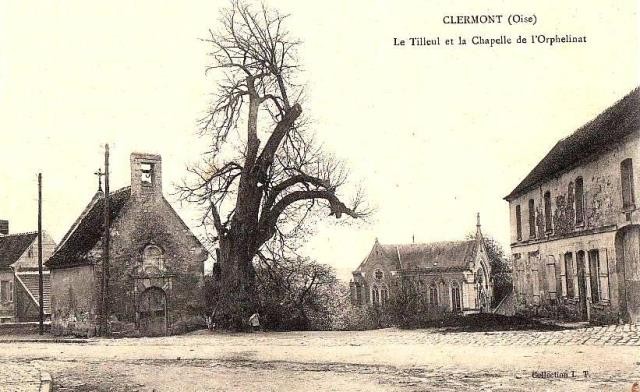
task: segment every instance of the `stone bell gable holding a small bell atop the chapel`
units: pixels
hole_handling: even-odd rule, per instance
[[[160,155],[131,154],[131,195],[153,199],[162,196],[162,158]]]

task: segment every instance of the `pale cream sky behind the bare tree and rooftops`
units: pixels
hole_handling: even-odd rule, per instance
[[[215,78],[200,38],[226,1],[0,3],[0,219],[59,241],[97,189],[129,185],[129,154],[163,158],[166,197],[208,141],[196,134]],[[638,86],[638,6],[619,1],[268,1],[300,38],[307,101],[326,151],[376,214],[323,220],[304,253],[349,279],[382,243],[459,240],[508,249],[502,199],[561,138]],[[445,15],[535,15],[536,25],[445,25]],[[506,16],[505,16],[506,18]],[[394,46],[412,36],[586,36],[574,45]]]

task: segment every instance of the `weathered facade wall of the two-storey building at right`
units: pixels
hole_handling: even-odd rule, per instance
[[[559,319],[608,323],[621,317],[619,292],[621,266],[618,265],[615,236],[621,228],[640,222],[640,211],[625,211],[622,206],[620,163],[631,158],[634,164],[635,200],[640,202],[640,141],[631,135],[608,151],[585,157],[580,165],[548,178],[528,192],[510,201],[511,251],[514,258],[514,289],[518,313]],[[576,219],[576,180],[583,181],[584,219]],[[547,230],[544,195],[551,195],[551,230]],[[534,201],[535,235],[530,236],[529,206]],[[522,238],[518,239],[516,206],[520,206]],[[606,271],[600,271],[597,290],[606,290],[592,298],[589,251],[597,251]],[[584,253],[582,253],[584,252]],[[567,279],[565,256],[570,254],[573,271]],[[586,307],[581,306],[578,287],[578,254],[584,254]],[[602,277],[600,275],[606,275]],[[602,279],[602,280],[601,280]],[[572,288],[567,288],[567,284]]]

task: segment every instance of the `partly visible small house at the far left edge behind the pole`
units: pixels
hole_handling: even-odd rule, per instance
[[[56,243],[42,232],[42,260],[46,262]],[[49,306],[49,270],[43,268],[44,314]],[[38,233],[9,234],[9,222],[0,221],[0,323],[38,321]]]

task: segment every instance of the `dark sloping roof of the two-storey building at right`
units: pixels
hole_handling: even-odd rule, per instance
[[[595,119],[556,143],[505,200],[519,196],[546,178],[572,167],[581,159],[604,151],[611,144],[639,129],[640,88],[636,88]]]

